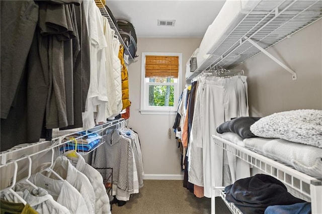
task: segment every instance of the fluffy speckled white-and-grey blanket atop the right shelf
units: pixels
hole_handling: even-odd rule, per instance
[[[322,148],[322,111],[275,113],[255,122],[251,131],[262,138],[281,138]]]

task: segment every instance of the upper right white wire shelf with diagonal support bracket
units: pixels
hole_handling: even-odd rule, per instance
[[[314,16],[310,16],[312,14]],[[295,71],[266,49],[321,18],[320,0],[280,1],[277,6],[272,4],[271,8],[267,4],[263,7],[259,2],[214,50],[210,50],[208,58],[186,80],[192,80],[202,71],[216,66],[231,69],[260,52],[290,72],[292,80],[296,80]]]

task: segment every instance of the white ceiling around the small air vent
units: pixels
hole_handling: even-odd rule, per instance
[[[137,37],[202,38],[225,0],[106,0],[116,19],[133,24]],[[175,26],[157,26],[175,20]]]

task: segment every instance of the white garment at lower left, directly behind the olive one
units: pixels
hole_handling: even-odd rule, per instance
[[[17,192],[17,194],[24,198],[24,200],[26,200],[26,202],[38,213],[70,214],[69,210],[55,201],[45,189],[34,189],[31,193],[25,189],[23,192]],[[10,202],[19,201],[12,193],[3,194],[1,199]]]

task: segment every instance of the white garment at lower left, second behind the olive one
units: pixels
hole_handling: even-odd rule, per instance
[[[54,200],[65,206],[70,213],[89,213],[81,193],[66,180],[55,180],[39,172],[31,175],[29,180],[36,186],[46,189]],[[32,192],[34,187],[25,181],[18,182],[15,186],[15,191],[24,191],[25,189]]]

